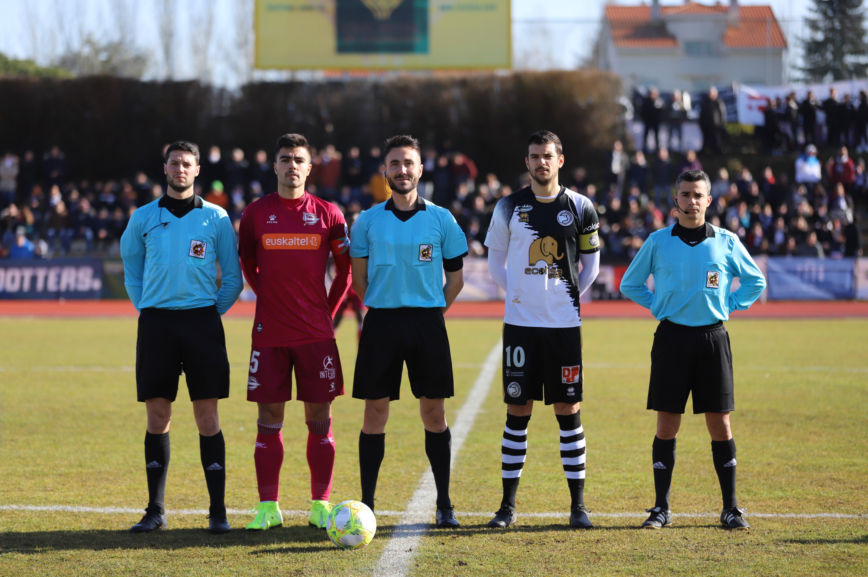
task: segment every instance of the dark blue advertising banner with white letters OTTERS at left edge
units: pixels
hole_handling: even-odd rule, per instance
[[[0,260],[0,298],[100,298],[101,259]]]

